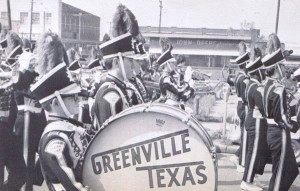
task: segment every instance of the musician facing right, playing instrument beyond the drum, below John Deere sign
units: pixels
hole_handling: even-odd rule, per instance
[[[172,46],[164,52],[158,59],[157,63],[163,68],[163,74],[159,79],[159,88],[161,91],[160,100],[169,105],[179,106],[184,109],[180,101],[187,101],[194,95],[193,84],[178,84],[175,80],[175,63],[176,60],[171,54]]]

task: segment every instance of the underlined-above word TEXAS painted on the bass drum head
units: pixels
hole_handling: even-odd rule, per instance
[[[148,172],[150,188],[205,184],[205,169],[203,161],[136,167],[136,171]]]

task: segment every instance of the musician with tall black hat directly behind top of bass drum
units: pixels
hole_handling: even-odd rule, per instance
[[[107,74],[101,77],[99,88],[95,95],[94,125],[99,127],[110,116],[115,115],[125,108],[132,106],[133,90],[128,90],[128,79],[133,78],[133,63],[126,54],[134,54],[131,46],[133,37],[130,33],[121,35],[116,39],[101,44]],[[117,47],[117,48],[116,48]],[[133,85],[132,85],[133,86]]]

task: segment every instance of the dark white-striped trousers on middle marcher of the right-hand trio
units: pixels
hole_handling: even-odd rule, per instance
[[[270,154],[266,140],[266,121],[257,119],[254,127],[247,128],[247,154],[243,181],[252,183],[255,174],[263,174]]]

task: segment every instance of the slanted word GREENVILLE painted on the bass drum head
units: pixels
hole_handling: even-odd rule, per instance
[[[190,152],[188,129],[92,155],[95,174]],[[168,149],[169,148],[169,149]]]

